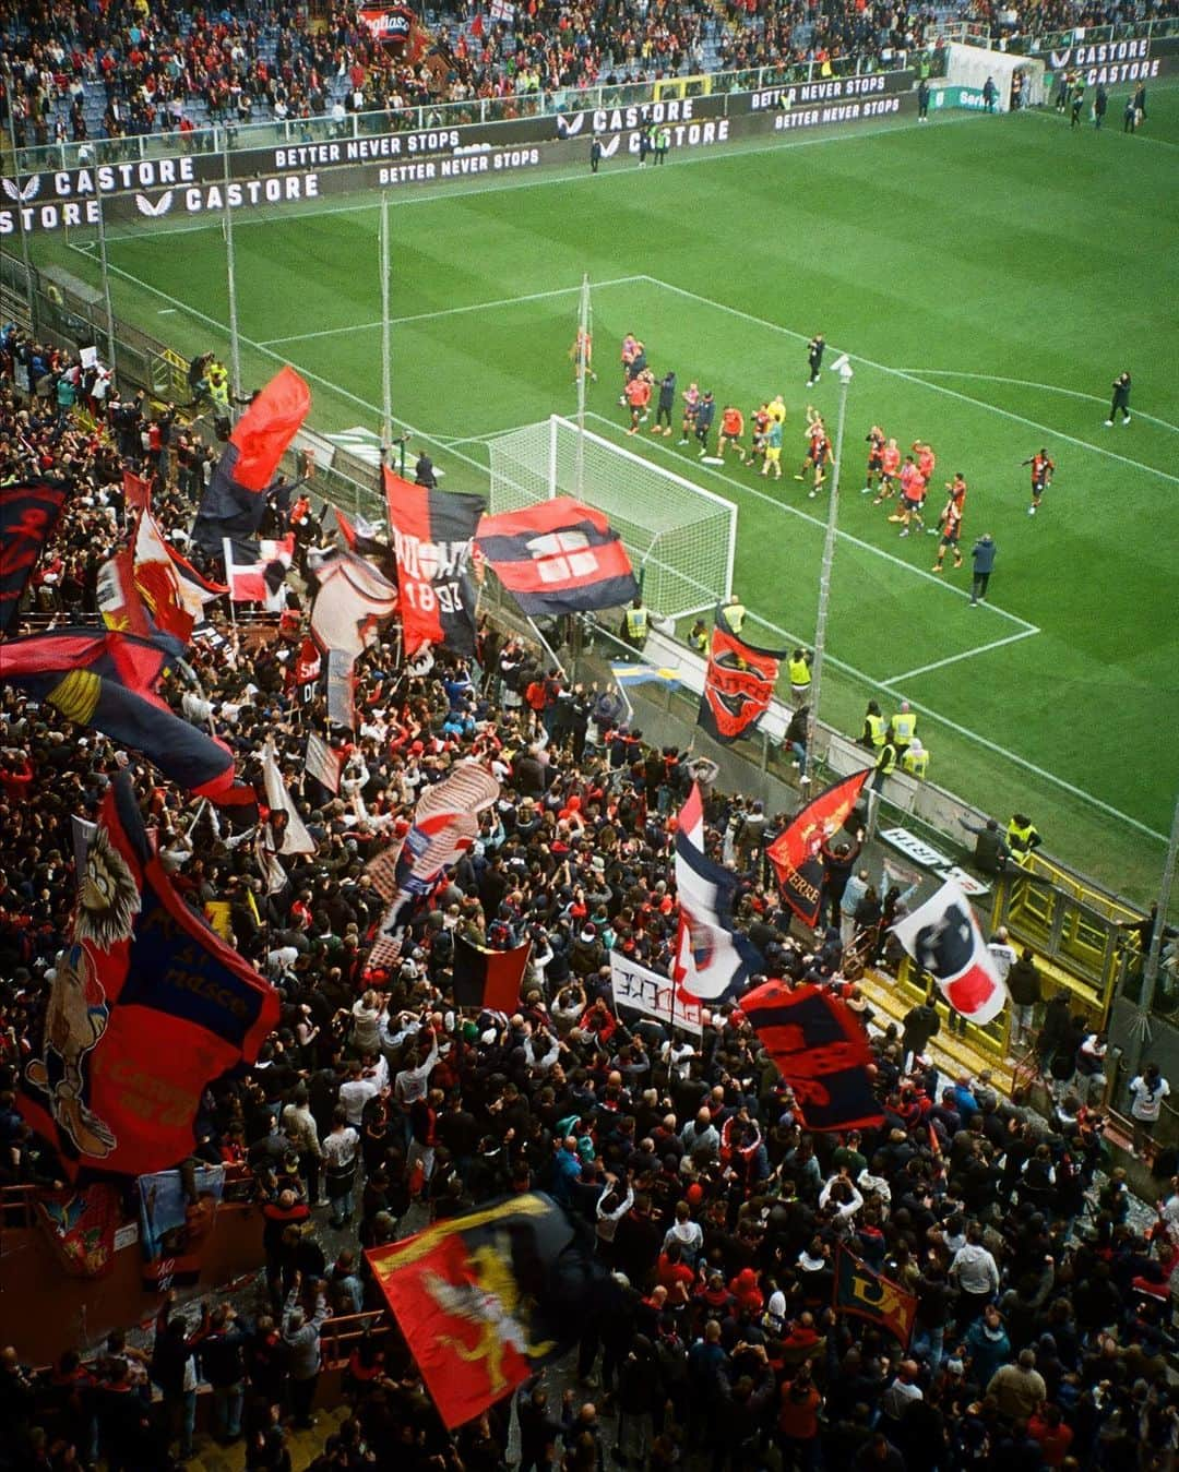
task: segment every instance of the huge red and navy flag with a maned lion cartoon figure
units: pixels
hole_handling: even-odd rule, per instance
[[[253,1063],[278,994],[184,904],[127,774],[107,789],[21,1113],[62,1157],[138,1176],[193,1151],[205,1088]]]

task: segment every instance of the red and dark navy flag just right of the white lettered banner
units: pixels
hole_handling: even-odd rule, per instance
[[[885,1116],[871,1091],[867,1035],[848,1007],[817,986],[765,982],[740,1010],[795,1091],[807,1129],[870,1129]]]

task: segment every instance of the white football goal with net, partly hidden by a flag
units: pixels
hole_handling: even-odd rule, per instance
[[[712,608],[733,590],[737,508],[642,455],[553,415],[489,440],[492,512],[576,496],[605,512],[664,618]],[[580,481],[580,487],[578,487]]]

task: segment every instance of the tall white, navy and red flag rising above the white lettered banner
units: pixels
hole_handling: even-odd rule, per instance
[[[739,992],[762,964],[754,942],[733,923],[736,888],[733,874],[704,852],[704,804],[693,783],[676,833],[680,923],[671,974],[681,992],[701,1001]]]

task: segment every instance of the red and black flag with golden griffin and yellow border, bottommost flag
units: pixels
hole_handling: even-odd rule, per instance
[[[365,1256],[447,1428],[511,1394],[609,1306],[609,1279],[539,1191]]]

